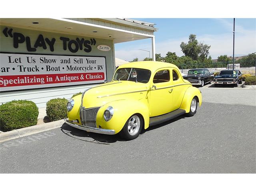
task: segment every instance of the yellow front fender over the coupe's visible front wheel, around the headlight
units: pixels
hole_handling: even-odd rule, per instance
[[[104,119],[104,111],[109,106],[114,109],[114,114],[109,121]],[[124,124],[133,114],[140,114],[144,120],[144,129],[149,126],[149,109],[148,105],[140,100],[116,100],[109,102],[102,106],[96,117],[97,127],[103,129],[115,130],[116,133],[120,132]]]

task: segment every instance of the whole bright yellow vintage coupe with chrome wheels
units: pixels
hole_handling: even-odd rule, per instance
[[[202,104],[198,88],[178,67],[142,61],[120,66],[112,82],[94,86],[70,99],[65,122],[87,132],[117,134],[132,140],[142,129],[185,114]]]

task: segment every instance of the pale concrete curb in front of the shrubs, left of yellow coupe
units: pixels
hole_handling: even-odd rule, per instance
[[[40,125],[34,125],[30,127],[25,127],[21,129],[16,129],[8,132],[2,132],[0,133],[0,142],[40,133],[43,131],[59,128],[64,124],[64,120],[58,120],[54,122],[49,122],[45,124],[40,124]]]

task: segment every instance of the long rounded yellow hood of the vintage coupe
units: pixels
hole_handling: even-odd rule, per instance
[[[103,106],[114,100],[140,100],[146,97],[146,84],[132,81],[114,81],[95,86],[84,94],[83,106],[92,108]]]

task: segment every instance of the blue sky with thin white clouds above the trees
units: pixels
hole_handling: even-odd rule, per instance
[[[156,24],[156,53],[161,56],[165,56],[168,51],[176,52],[178,56],[184,55],[180,43],[187,42],[190,34],[196,34],[199,42],[211,45],[212,59],[233,54],[233,18],[133,19]],[[236,18],[235,24],[235,56],[256,52],[256,19]],[[151,54],[151,39],[115,44],[116,58],[130,61],[136,57],[139,60],[148,57],[148,52],[139,49],[150,50]]]

